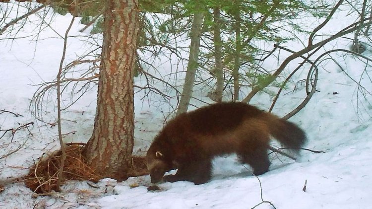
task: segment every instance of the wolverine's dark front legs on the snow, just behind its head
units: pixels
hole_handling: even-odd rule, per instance
[[[175,175],[164,176],[168,182],[190,181],[194,184],[204,184],[210,180],[212,163],[210,159],[198,159],[180,165]]]

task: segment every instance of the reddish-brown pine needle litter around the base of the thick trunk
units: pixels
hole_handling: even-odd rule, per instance
[[[66,159],[64,162],[62,183],[69,180],[98,182],[103,176],[97,174],[93,168],[85,163],[82,155],[81,143],[72,143],[66,146]],[[43,154],[25,177],[24,182],[28,188],[37,194],[49,194],[52,190],[58,192],[58,175],[61,166],[62,151],[57,150],[50,154]],[[144,157],[131,156],[128,162],[128,177],[147,175],[146,160]]]

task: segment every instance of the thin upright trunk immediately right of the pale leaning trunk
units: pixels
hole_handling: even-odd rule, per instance
[[[222,53],[221,53],[221,15],[220,8],[214,8],[214,58],[215,58],[215,69],[214,74],[216,76],[216,101],[222,102],[222,92],[224,89],[224,73],[222,64]]]

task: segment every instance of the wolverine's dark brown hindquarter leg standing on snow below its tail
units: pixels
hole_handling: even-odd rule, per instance
[[[261,175],[269,170],[267,145],[263,141],[266,140],[250,139],[242,144],[241,150],[237,153],[242,163],[247,163],[253,168],[254,175]]]

